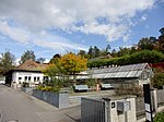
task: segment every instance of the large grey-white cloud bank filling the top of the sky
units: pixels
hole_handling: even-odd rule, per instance
[[[155,0],[1,0],[0,16],[13,19],[32,30],[51,27],[67,32],[79,30],[104,35],[112,41],[125,38],[133,25],[131,19],[137,12],[151,9],[154,2]],[[97,21],[99,17],[106,21],[101,24]],[[78,22],[82,22],[82,25],[77,26]],[[20,38],[24,37],[15,39]]]

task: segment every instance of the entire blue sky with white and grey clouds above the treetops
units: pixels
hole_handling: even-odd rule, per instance
[[[0,0],[0,53],[16,59],[130,47],[162,27],[164,0]]]

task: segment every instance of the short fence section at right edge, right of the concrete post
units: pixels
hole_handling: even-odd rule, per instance
[[[164,89],[159,89],[157,94],[157,106],[164,105]]]

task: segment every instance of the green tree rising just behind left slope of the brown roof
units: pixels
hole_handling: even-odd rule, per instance
[[[22,56],[21,56],[21,61],[20,63],[24,63],[25,61],[27,60],[33,60],[35,61],[35,54],[34,54],[34,51],[32,50],[27,50],[26,52],[24,52]]]

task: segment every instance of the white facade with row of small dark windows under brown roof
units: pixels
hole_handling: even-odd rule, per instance
[[[43,83],[44,81],[44,74],[39,72],[21,72],[21,71],[14,71],[12,73],[12,82],[16,84],[22,84],[23,82],[26,83]]]

